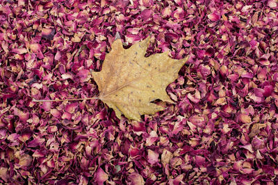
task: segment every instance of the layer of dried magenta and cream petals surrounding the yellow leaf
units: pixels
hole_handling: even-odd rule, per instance
[[[275,184],[277,1],[1,1],[0,182]],[[189,56],[175,105],[117,119],[90,70],[116,33]],[[159,103],[159,102],[158,102]],[[163,104],[163,103],[162,103]]]

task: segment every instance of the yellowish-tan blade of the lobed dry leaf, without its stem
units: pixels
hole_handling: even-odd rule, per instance
[[[164,108],[152,103],[156,99],[173,103],[165,89],[178,77],[186,62],[174,60],[168,53],[145,58],[149,37],[124,49],[116,39],[106,54],[102,70],[92,72],[99,87],[99,99],[115,110],[116,116],[140,121],[142,114],[154,114]]]

